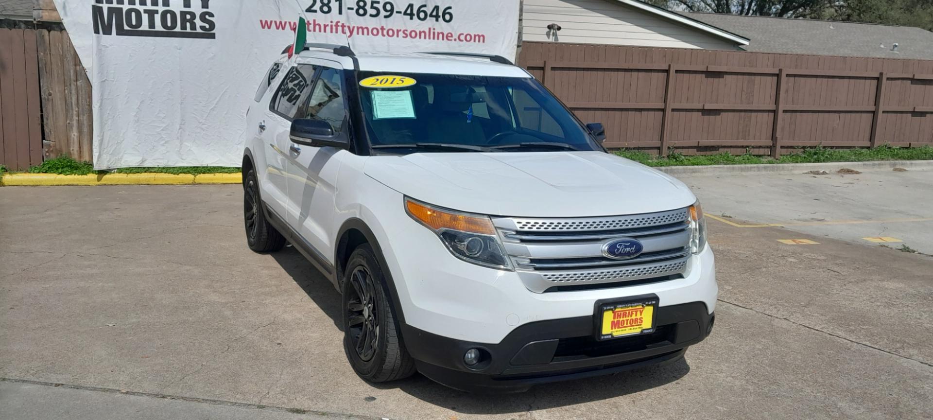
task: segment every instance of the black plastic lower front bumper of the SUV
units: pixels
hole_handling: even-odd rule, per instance
[[[471,392],[521,392],[531,385],[675,361],[689,345],[706,338],[715,319],[702,301],[657,311],[654,333],[607,342],[596,342],[592,315],[524,324],[495,344],[455,340],[409,325],[402,325],[402,336],[418,371],[442,385]],[[479,370],[463,362],[470,348],[489,357]]]

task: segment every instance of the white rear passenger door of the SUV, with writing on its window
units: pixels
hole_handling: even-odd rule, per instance
[[[317,67],[312,64],[292,65],[285,71],[285,77],[272,95],[265,118],[258,124],[263,147],[266,148],[266,178],[264,201],[279,219],[286,220],[288,203],[287,175],[289,147],[292,147],[288,133],[291,121],[311,94],[314,73]]]

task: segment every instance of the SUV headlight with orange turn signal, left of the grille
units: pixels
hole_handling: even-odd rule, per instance
[[[405,198],[411,218],[438,234],[454,257],[485,267],[511,270],[488,216],[461,213]]]

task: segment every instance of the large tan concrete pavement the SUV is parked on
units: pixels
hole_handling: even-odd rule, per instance
[[[705,191],[698,193],[707,212],[720,211]],[[761,191],[746,189],[745,197],[755,202]],[[923,191],[933,197],[928,186]],[[39,401],[89,418],[241,415],[202,414],[211,401],[244,404],[234,408],[254,418],[308,415],[300,411],[503,420],[933,413],[933,259],[925,256],[833,237],[782,245],[776,240],[801,231],[711,220],[717,327],[686,360],[481,396],[421,376],[361,381],[341,349],[337,292],[291,248],[250,252],[241,212],[237,186],[0,189],[0,377],[80,388],[65,395],[0,383],[8,414],[0,416],[61,418],[55,407],[37,409]],[[108,391],[119,389],[139,395]],[[153,408],[158,396],[197,406]],[[121,397],[133,399],[91,404]]]

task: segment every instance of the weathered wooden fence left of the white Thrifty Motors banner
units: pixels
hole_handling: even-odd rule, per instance
[[[91,82],[61,24],[0,27],[0,163],[91,161]]]

